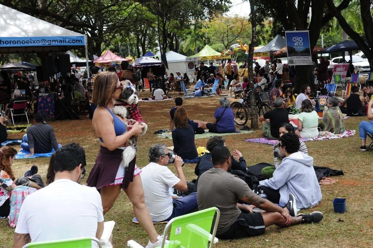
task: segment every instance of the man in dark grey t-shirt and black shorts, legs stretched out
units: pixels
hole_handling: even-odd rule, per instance
[[[231,167],[231,154],[225,146],[214,148],[211,160],[214,168],[201,175],[197,201],[200,210],[219,208],[217,238],[238,239],[256,236],[264,233],[265,227],[273,224],[285,227],[291,224],[317,223],[322,220],[323,214],[320,212],[294,217],[297,215],[295,198],[282,208],[256,195],[243,180],[227,172]],[[239,200],[253,205],[239,204]],[[252,213],[254,207],[265,212]]]

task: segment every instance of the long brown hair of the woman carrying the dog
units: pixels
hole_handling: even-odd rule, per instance
[[[100,72],[94,80],[92,102],[95,105],[106,107],[112,100],[118,81],[114,72]]]

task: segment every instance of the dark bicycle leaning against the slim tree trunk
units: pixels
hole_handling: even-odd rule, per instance
[[[254,88],[249,89],[248,96],[250,96],[250,92],[253,91]],[[243,90],[237,90],[235,91],[236,94],[241,95],[242,102],[233,102],[231,104],[231,109],[233,110],[234,114],[234,122],[237,125],[245,125],[248,121],[248,119],[251,119],[251,104],[249,97],[245,96],[243,94]],[[268,92],[260,92],[255,93],[256,94],[256,102],[257,102],[257,108],[258,108],[258,115],[264,115],[268,111],[271,111],[272,108],[267,104],[269,102],[269,94]]]

